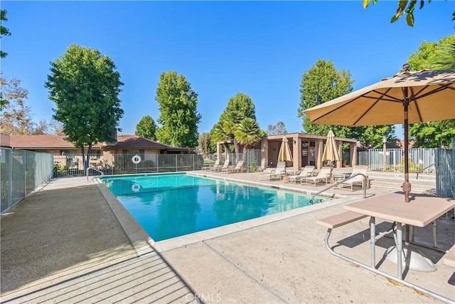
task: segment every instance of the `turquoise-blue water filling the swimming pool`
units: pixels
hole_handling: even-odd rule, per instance
[[[102,182],[154,241],[308,206],[311,199],[187,174],[103,177]]]

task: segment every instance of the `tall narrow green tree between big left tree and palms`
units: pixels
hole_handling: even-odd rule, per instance
[[[185,76],[174,70],[161,73],[159,78],[155,100],[159,103],[161,127],[156,130],[156,137],[167,145],[196,147],[200,122],[198,94]]]

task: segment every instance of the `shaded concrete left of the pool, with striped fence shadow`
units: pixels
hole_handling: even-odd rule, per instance
[[[0,246],[2,303],[197,300],[153,248],[138,255],[97,184],[27,196],[1,216]]]

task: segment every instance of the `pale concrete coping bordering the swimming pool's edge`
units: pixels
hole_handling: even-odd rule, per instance
[[[168,172],[168,174],[175,174],[176,172]],[[181,173],[181,172],[178,172]],[[160,173],[162,174],[162,173]],[[227,178],[227,177],[218,177],[211,174],[200,174],[197,172],[186,172],[188,175],[198,176],[198,177],[208,177],[213,179],[220,179],[229,182],[237,182],[241,184],[252,184],[254,186],[259,187],[268,187],[272,189],[282,189],[291,192],[300,192],[302,194],[311,195],[316,193],[315,191],[311,191],[308,189],[299,189],[286,187],[285,185],[277,184],[265,184],[263,182],[251,182],[245,181],[245,179],[235,179],[235,178]],[[131,175],[131,174],[125,174]],[[116,175],[118,176],[118,175]],[[323,201],[318,204],[312,204],[310,206],[303,206],[296,209],[291,209],[287,211],[278,212],[276,214],[269,214],[266,216],[261,216],[256,219],[249,219],[247,221],[240,221],[234,224],[228,224],[225,226],[215,227],[212,229],[207,229],[203,231],[194,232],[192,234],[186,234],[184,236],[177,236],[172,239],[166,239],[163,241],[154,241],[154,239],[146,233],[146,231],[142,228],[142,226],[137,222],[136,219],[125,209],[122,203],[109,191],[106,184],[100,181],[99,178],[96,178],[97,186],[100,189],[100,192],[105,197],[107,204],[109,205],[110,209],[114,213],[117,218],[117,221],[122,229],[124,230],[125,235],[132,243],[134,251],[136,251],[138,256],[141,256],[144,253],[149,253],[151,249],[157,252],[164,252],[174,248],[179,248],[183,246],[190,245],[192,243],[198,243],[200,241],[205,241],[208,239],[214,239],[218,236],[225,236],[227,234],[232,234],[238,231],[243,231],[247,229],[252,229],[257,226],[262,226],[264,224],[273,223],[274,221],[281,221],[283,219],[289,219],[294,216],[299,216],[301,214],[307,214],[314,211],[318,211],[324,208],[328,208],[331,206],[336,206],[338,204],[345,204],[348,201],[353,202],[361,198],[353,198],[350,196],[345,196],[341,194],[333,194],[328,192],[323,192],[319,194],[320,196],[326,196],[328,198],[332,198],[330,201]]]

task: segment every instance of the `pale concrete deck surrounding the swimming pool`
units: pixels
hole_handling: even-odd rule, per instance
[[[214,175],[259,182],[257,173]],[[401,182],[395,190],[372,187],[367,194],[399,191]],[[344,197],[305,212],[154,243],[104,185],[83,177],[52,179],[1,216],[1,301],[188,303],[198,295],[205,303],[439,303],[331,256],[323,243],[326,229],[316,220],[338,213],[363,192],[329,192]],[[377,222],[379,229],[389,228]],[[455,241],[454,221],[441,219],[438,233],[439,246],[448,249]],[[430,236],[431,228],[416,229],[418,241],[431,244]],[[335,229],[331,244],[368,263],[368,238],[363,219]],[[396,265],[382,261],[382,249],[392,243],[380,239],[377,258],[382,271],[395,274]],[[454,268],[441,263],[442,253],[422,252],[437,271],[407,271],[406,280],[455,300]]]

